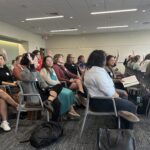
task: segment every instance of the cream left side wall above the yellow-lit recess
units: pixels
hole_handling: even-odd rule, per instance
[[[4,22],[0,22],[0,35],[24,40],[28,42],[28,50],[45,48],[45,40],[40,35],[33,34],[26,30],[17,28]]]

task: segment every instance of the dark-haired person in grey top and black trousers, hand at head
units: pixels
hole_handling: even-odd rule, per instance
[[[20,79],[23,81],[24,93],[39,93],[44,105],[48,110],[52,111],[52,120],[58,121],[60,114],[60,102],[57,95],[61,92],[62,86],[59,84],[49,88],[46,82],[41,78],[40,74],[35,70],[34,64],[35,56],[33,54],[25,53],[21,59],[20,64],[23,70],[20,72]],[[38,100],[36,96],[28,97],[31,103]],[[38,101],[39,103],[39,101]]]

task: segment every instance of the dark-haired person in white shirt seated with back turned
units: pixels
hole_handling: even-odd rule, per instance
[[[98,96],[114,97],[117,111],[122,116],[121,127],[133,128],[133,122],[139,121],[136,114],[136,106],[125,99],[121,99],[114,88],[114,83],[104,69],[106,54],[102,50],[93,51],[87,61],[87,71],[84,76],[84,84],[91,95],[90,108],[93,111],[114,111],[112,102],[99,101]]]

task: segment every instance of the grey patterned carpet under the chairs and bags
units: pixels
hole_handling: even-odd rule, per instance
[[[82,138],[79,138],[83,119],[83,110],[80,110],[81,119],[76,121],[62,121],[64,136],[56,143],[42,150],[96,150],[96,133],[104,124],[112,127],[114,118],[102,118],[89,116],[86,122]],[[150,145],[150,118],[140,117],[141,122],[135,125],[137,150],[149,150]],[[15,120],[9,121],[12,130],[8,133],[0,133],[0,150],[35,150],[30,143],[19,143],[20,140],[28,139],[32,129],[41,121],[31,122],[21,120],[17,136],[14,134]]]

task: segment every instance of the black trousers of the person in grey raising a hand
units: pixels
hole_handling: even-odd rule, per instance
[[[45,91],[39,90],[41,99],[43,101],[47,100],[48,97],[50,96],[49,91],[55,91],[57,93],[57,95],[59,95],[62,88],[63,88],[63,86],[61,84],[57,84],[53,87],[48,87]],[[55,100],[53,100],[52,106],[54,108],[54,111],[52,113],[52,120],[53,121],[58,121],[59,115],[60,115],[60,106],[61,106],[58,97]]]

